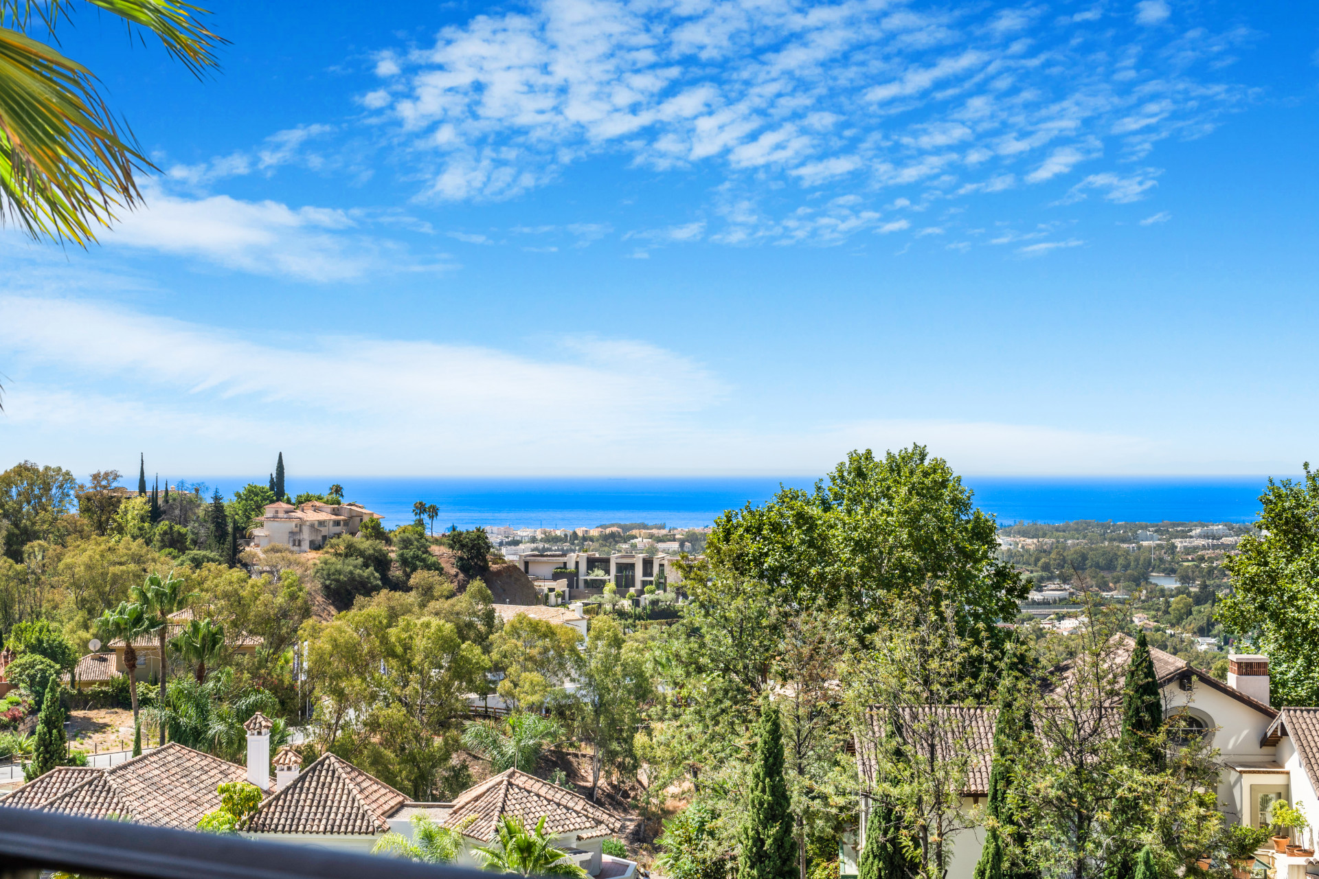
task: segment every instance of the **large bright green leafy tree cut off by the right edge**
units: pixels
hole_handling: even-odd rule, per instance
[[[1274,705],[1319,704],[1319,470],[1301,481],[1269,480],[1253,535],[1223,567],[1232,594],[1217,618],[1269,656]]]

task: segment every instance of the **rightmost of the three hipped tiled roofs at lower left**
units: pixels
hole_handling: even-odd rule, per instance
[[[615,832],[617,821],[583,796],[542,781],[534,775],[508,770],[463,791],[445,818],[445,826],[463,836],[488,841],[501,816],[510,814],[534,826],[545,816],[547,833],[576,833],[582,838]],[[475,821],[471,818],[475,816]]]

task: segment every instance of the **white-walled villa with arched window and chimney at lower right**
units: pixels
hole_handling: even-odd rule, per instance
[[[1125,650],[1134,647],[1126,635]],[[1301,807],[1315,821],[1319,817],[1319,708],[1282,708],[1269,705],[1269,660],[1260,655],[1229,656],[1227,683],[1188,666],[1184,660],[1150,647],[1154,672],[1163,693],[1165,717],[1181,714],[1188,730],[1208,730],[1210,745],[1219,751],[1219,810],[1233,824],[1264,826],[1261,803],[1285,800]],[[1126,662],[1125,658],[1121,662]],[[962,792],[963,808],[971,809],[988,795],[989,767],[993,752],[993,708],[947,708],[948,722],[964,730],[980,754],[980,766]],[[878,718],[874,718],[878,723]],[[878,727],[872,730],[872,741]],[[874,781],[871,745],[857,739],[857,770],[863,792]],[[860,841],[844,839],[840,875],[855,876],[856,858],[864,846],[869,797],[861,797]],[[1314,829],[1295,832],[1295,842],[1314,849]],[[964,830],[954,841],[948,879],[971,879],[984,833],[980,828]],[[1273,867],[1274,879],[1304,879],[1307,871],[1319,874],[1319,858],[1303,854],[1260,853],[1261,861]]]

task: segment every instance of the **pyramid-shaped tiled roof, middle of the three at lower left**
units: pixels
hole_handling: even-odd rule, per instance
[[[323,754],[261,805],[253,833],[388,833],[386,818],[408,797],[334,754]]]

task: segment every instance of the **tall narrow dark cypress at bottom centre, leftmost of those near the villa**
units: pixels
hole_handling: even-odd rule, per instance
[[[740,833],[739,879],[797,879],[797,839],[783,779],[783,739],[778,712],[766,704],[751,774],[751,803]]]

